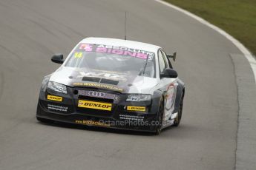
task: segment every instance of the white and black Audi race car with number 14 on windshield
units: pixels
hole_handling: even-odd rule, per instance
[[[36,118],[153,132],[179,126],[185,85],[171,65],[176,53],[161,47],[115,38],[85,38],[62,64],[45,76]]]

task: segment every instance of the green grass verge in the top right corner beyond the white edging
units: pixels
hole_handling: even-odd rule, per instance
[[[165,0],[200,16],[256,55],[256,0]]]

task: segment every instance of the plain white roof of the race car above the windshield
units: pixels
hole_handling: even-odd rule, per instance
[[[137,41],[130,41],[130,40],[122,40],[116,38],[96,38],[96,37],[89,37],[85,38],[81,41],[81,43],[88,43],[88,44],[102,44],[102,45],[111,45],[117,47],[128,47],[136,50],[145,50],[148,52],[157,52],[161,47],[147,44]]]

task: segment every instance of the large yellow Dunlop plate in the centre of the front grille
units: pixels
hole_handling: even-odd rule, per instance
[[[102,102],[96,102],[96,101],[78,101],[79,107],[84,107],[88,109],[99,109],[99,110],[108,110],[111,111],[112,104],[111,103],[102,103]]]

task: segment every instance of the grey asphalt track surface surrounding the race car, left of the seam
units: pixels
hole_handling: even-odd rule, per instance
[[[154,136],[36,121],[44,75],[88,36],[177,51],[183,120]],[[0,169],[234,169],[237,47],[209,27],[148,0],[0,1]]]

